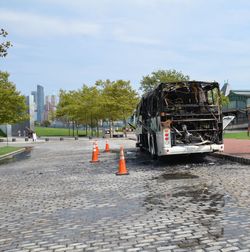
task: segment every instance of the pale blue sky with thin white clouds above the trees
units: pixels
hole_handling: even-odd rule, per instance
[[[249,0],[0,0],[0,70],[28,95],[176,69],[250,90]],[[2,40],[0,40],[1,42]]]

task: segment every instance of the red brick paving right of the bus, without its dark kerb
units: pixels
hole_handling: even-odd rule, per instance
[[[224,139],[225,154],[250,159],[250,141],[241,139]]]

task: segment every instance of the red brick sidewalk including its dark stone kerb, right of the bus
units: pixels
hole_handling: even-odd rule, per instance
[[[250,164],[250,141],[241,139],[224,139],[224,152],[214,153],[217,157]]]

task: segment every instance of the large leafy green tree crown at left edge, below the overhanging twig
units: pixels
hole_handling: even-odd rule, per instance
[[[8,78],[7,72],[0,71],[0,124],[13,124],[28,118],[25,97]]]

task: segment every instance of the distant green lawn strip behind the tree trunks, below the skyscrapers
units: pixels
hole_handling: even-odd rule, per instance
[[[35,132],[38,136],[69,136],[69,130],[63,128],[46,128],[46,127],[35,127]],[[73,131],[70,130],[72,136]],[[78,135],[85,135],[85,130],[78,130]],[[76,135],[76,130],[75,130]]]

